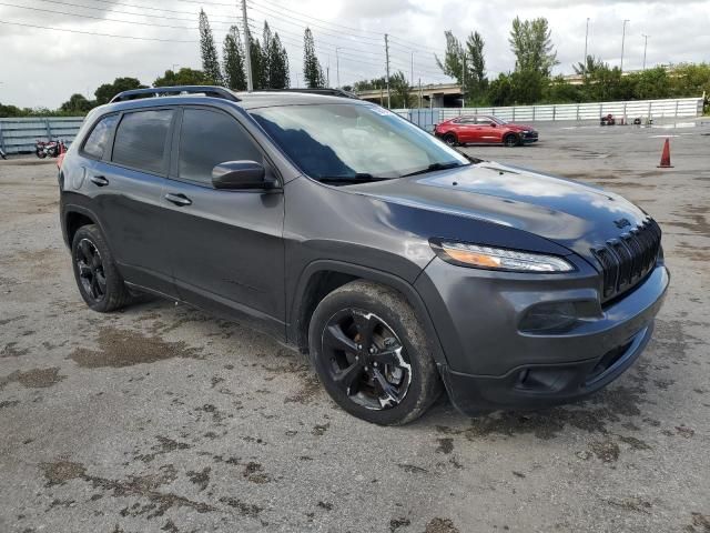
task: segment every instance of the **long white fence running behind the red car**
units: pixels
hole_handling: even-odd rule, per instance
[[[394,110],[403,117],[409,117],[409,111]],[[702,98],[679,98],[668,100],[631,100],[627,102],[594,102],[594,103],[558,103],[549,105],[514,105],[507,108],[438,108],[438,121],[453,119],[460,114],[493,114],[503,120],[521,121],[556,121],[556,120],[599,120],[606,114],[636,118],[663,117],[699,117],[702,114]]]

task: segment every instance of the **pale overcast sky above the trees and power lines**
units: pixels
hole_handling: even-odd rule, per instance
[[[151,84],[173,67],[199,69],[200,7],[210,17],[221,51],[230,23],[237,16],[241,18],[236,3],[236,0],[2,0],[0,102],[55,108],[74,92],[93,98],[99,84],[120,76]],[[314,32],[324,69],[329,64],[333,87],[337,83],[336,47],[341,84],[383,76],[385,32],[392,36],[393,70],[403,70],[409,77],[414,51],[415,83],[419,78],[423,83],[447,81],[436,67],[434,53],[442,53],[444,30],[448,29],[460,39],[478,30],[486,41],[489,76],[507,72],[515,61],[508,33],[516,16],[549,20],[560,61],[556,72],[570,73],[571,64],[582,59],[587,18],[589,53],[612,66],[619,64],[623,19],[629,19],[625,70],[641,68],[642,33],[650,36],[648,66],[710,61],[710,0],[247,0],[247,6],[250,24],[258,29],[258,37],[264,19],[282,36],[293,86],[303,81],[303,30],[307,24]]]

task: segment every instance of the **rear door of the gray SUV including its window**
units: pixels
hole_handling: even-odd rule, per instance
[[[92,209],[121,274],[130,283],[166,295],[174,295],[174,284],[161,251],[160,204],[174,117],[174,110],[165,108],[109,115],[82,148],[84,187],[94,197]],[[118,124],[113,128],[105,120]],[[94,132],[101,140],[98,145],[92,143]]]

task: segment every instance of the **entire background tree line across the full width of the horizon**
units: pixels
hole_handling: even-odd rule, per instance
[[[248,28],[240,32],[236,26],[227,31],[222,43],[222,57],[217,51],[210,21],[204,10],[199,13],[200,56],[202,69],[181,68],[166,70],[156,78],[153,87],[216,84],[235,91],[246,90],[245,40],[250,42],[254,89],[286,89],[291,87],[288,54],[278,32],[272,32],[264,21],[262,39],[255,38]],[[477,31],[459,40],[452,31],[444,32],[445,49],[435,61],[442,72],[462,84],[465,103],[469,107],[516,105],[531,103],[576,103],[609,100],[641,100],[659,98],[698,97],[710,94],[710,64],[682,63],[672,68],[657,67],[641,72],[621,73],[618,67],[609,67],[599,58],[589,56],[585,63],[572,66],[581,77],[581,83],[572,84],[562,76],[552,77],[552,68],[559,64],[551,41],[551,30],[545,18],[513,21],[508,43],[515,57],[514,70],[489,79],[486,71],[485,41]],[[315,52],[310,28],[304,31],[303,84],[307,88],[327,86],[323,67]],[[361,80],[345,90],[382,90],[384,76]],[[77,115],[108,103],[119,92],[145,88],[136,78],[116,78],[94,91],[94,99],[72,94],[58,110],[20,109],[0,103],[0,117]],[[418,104],[414,88],[403,71],[389,77],[393,108],[410,108]],[[383,98],[383,101],[385,99]],[[710,111],[708,100],[706,110]]]

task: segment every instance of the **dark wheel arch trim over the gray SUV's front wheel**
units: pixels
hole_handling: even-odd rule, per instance
[[[426,333],[429,349],[437,364],[446,364],[444,350],[428,309],[416,289],[406,280],[368,266],[341,261],[314,261],[298,279],[293,293],[287,336],[303,352],[308,350],[308,326],[318,303],[335,289],[355,280],[368,280],[399,292],[414,309]]]

